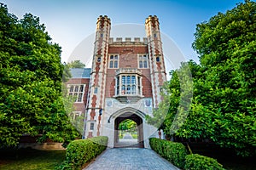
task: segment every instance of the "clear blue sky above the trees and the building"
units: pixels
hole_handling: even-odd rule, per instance
[[[112,26],[144,24],[149,14],[157,15],[160,31],[170,37],[185,59],[198,62],[191,48],[196,24],[209,20],[218,12],[234,8],[241,0],[2,0],[9,13],[21,18],[32,13],[40,18],[53,42],[62,48],[61,59],[67,59],[84,38],[96,31],[99,15],[108,15]],[[124,34],[125,35],[125,34]],[[136,36],[135,36],[136,37]],[[89,57],[89,56],[87,56]]]

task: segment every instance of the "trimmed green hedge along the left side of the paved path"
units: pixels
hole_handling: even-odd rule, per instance
[[[56,167],[57,170],[81,169],[86,162],[100,155],[106,150],[108,145],[108,137],[99,136],[91,139],[73,140],[67,145],[66,160],[61,166]]]

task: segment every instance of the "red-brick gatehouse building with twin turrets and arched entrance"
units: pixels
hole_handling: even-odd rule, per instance
[[[160,39],[159,20],[149,15],[146,36],[110,35],[108,16],[96,22],[96,40],[91,69],[73,69],[67,82],[70,95],[77,95],[74,115],[84,115],[84,138],[108,136],[108,146],[119,142],[119,123],[137,123],[138,143],[148,146],[156,128],[145,122],[160,101],[160,88],[166,82],[166,69]]]

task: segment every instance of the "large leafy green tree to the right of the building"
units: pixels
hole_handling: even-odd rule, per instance
[[[196,26],[193,48],[200,64],[188,62],[193,100],[186,121],[175,135],[210,139],[241,156],[256,153],[255,20],[256,3],[246,1]],[[171,95],[163,128],[169,135],[181,98],[178,71],[172,71],[167,87]]]

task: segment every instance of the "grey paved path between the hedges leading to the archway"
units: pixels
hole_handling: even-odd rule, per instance
[[[105,150],[84,170],[178,170],[154,150],[142,148],[113,148]]]

